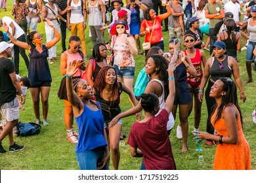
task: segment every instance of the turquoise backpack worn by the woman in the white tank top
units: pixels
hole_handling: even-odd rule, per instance
[[[134,93],[136,99],[140,100],[140,95],[144,93],[146,86],[148,85],[148,75],[145,73],[145,67],[140,71],[134,86]]]

